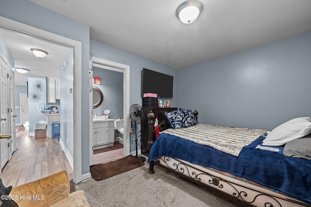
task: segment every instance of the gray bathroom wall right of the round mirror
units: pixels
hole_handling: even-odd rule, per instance
[[[93,77],[100,77],[101,84],[95,84],[104,95],[103,103],[93,109],[96,116],[101,116],[104,110],[109,109],[110,119],[123,119],[123,73],[108,69],[100,69],[94,67]],[[94,91],[94,90],[93,90]]]

